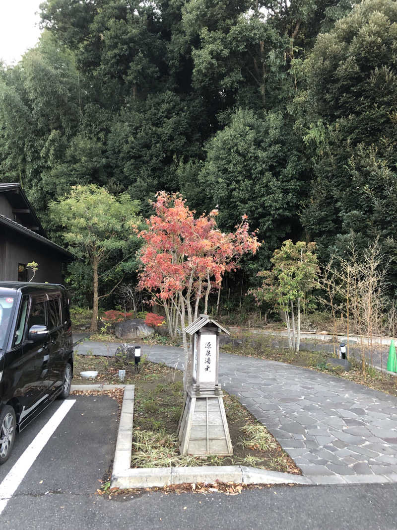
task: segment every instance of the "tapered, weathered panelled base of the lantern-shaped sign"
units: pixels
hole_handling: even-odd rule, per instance
[[[221,391],[187,391],[178,438],[182,455],[233,454]]]

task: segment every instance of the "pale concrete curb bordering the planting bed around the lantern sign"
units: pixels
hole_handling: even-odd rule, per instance
[[[183,482],[235,482],[241,484],[385,484],[397,483],[397,473],[390,475],[312,475],[301,476],[278,471],[267,471],[249,466],[192,466],[192,467],[131,467],[134,385],[71,385],[70,391],[101,391],[124,388],[123,404],[116,449],[114,453],[111,488],[162,488]]]

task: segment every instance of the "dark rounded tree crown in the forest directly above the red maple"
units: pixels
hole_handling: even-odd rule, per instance
[[[166,91],[132,102],[113,118],[106,157],[132,197],[147,201],[158,190],[178,190],[178,163],[201,152],[200,110],[191,98]]]

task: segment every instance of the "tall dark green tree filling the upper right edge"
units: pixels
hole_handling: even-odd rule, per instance
[[[397,259],[396,28],[396,2],[365,0],[318,36],[305,62],[297,129],[304,123],[314,178],[302,222],[324,261],[376,235]]]

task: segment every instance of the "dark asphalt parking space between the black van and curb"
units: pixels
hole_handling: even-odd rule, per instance
[[[101,487],[99,480],[108,472],[114,456],[118,430],[117,402],[103,395],[71,396],[70,399],[75,403],[8,500],[0,515],[0,527],[4,527],[3,520],[9,527],[15,503],[24,505],[31,498],[65,493],[91,495]],[[10,460],[0,467],[0,488],[20,456],[61,405],[62,401],[53,402],[16,437]],[[23,517],[26,518],[26,515],[24,510]],[[12,517],[15,527],[26,527],[26,521],[21,517],[22,514]]]

